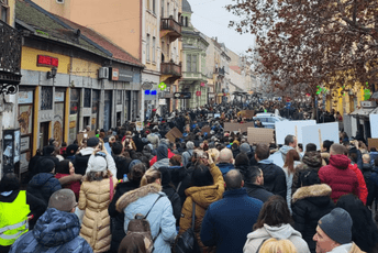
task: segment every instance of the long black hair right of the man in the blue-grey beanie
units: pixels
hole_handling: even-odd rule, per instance
[[[373,220],[370,210],[364,206],[357,196],[352,194],[340,197],[336,207],[346,210],[353,220],[352,241],[365,252],[373,252],[377,246],[378,229]]]

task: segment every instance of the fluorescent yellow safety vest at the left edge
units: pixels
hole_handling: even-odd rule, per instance
[[[0,202],[0,245],[12,245],[29,231],[29,213],[25,190],[20,190],[13,202]]]

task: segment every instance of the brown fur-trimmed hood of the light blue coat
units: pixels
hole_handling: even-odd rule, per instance
[[[162,186],[153,183],[145,186],[142,186],[137,189],[131,190],[119,198],[115,204],[116,211],[123,212],[123,210],[132,202],[143,198],[149,194],[157,194],[162,191]]]

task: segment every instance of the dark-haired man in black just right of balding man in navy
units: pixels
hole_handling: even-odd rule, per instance
[[[274,194],[264,188],[264,174],[257,166],[251,166],[246,170],[244,187],[249,197],[257,198],[263,202],[274,196]]]

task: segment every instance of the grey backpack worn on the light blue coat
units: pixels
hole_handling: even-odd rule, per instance
[[[149,253],[154,251],[154,242],[158,238],[158,235],[160,234],[162,229],[159,229],[159,232],[156,234],[155,239],[153,239],[147,217],[148,217],[151,210],[154,208],[157,200],[159,200],[163,196],[159,195],[159,197],[155,200],[154,205],[151,207],[149,211],[145,216],[143,216],[142,213],[136,213],[134,219],[131,220],[129,222],[129,226],[127,226],[126,237],[130,234],[133,234],[133,233],[142,234],[144,237],[146,250]]]

